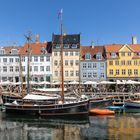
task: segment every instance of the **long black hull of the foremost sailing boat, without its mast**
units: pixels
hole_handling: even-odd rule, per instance
[[[69,103],[69,104],[51,104],[51,105],[14,105],[6,103],[7,113],[19,113],[39,116],[70,116],[70,115],[88,115],[88,101]]]

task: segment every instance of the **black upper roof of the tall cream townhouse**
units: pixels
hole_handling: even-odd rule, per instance
[[[54,44],[60,44],[60,35],[53,34],[52,42]],[[79,44],[80,43],[80,34],[70,34],[63,36],[63,44]]]

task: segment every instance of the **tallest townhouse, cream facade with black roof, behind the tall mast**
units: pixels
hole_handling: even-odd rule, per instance
[[[61,81],[60,35],[52,37],[52,81]],[[80,34],[63,35],[63,70],[65,82],[79,81]]]

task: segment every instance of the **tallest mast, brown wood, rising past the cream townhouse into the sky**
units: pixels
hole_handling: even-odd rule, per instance
[[[60,11],[60,48],[61,48],[61,100],[64,103],[64,67],[63,67],[63,22],[62,22],[63,9]]]

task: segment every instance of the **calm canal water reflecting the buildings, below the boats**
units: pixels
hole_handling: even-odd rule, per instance
[[[140,111],[85,120],[14,116],[0,112],[0,140],[140,140]]]

